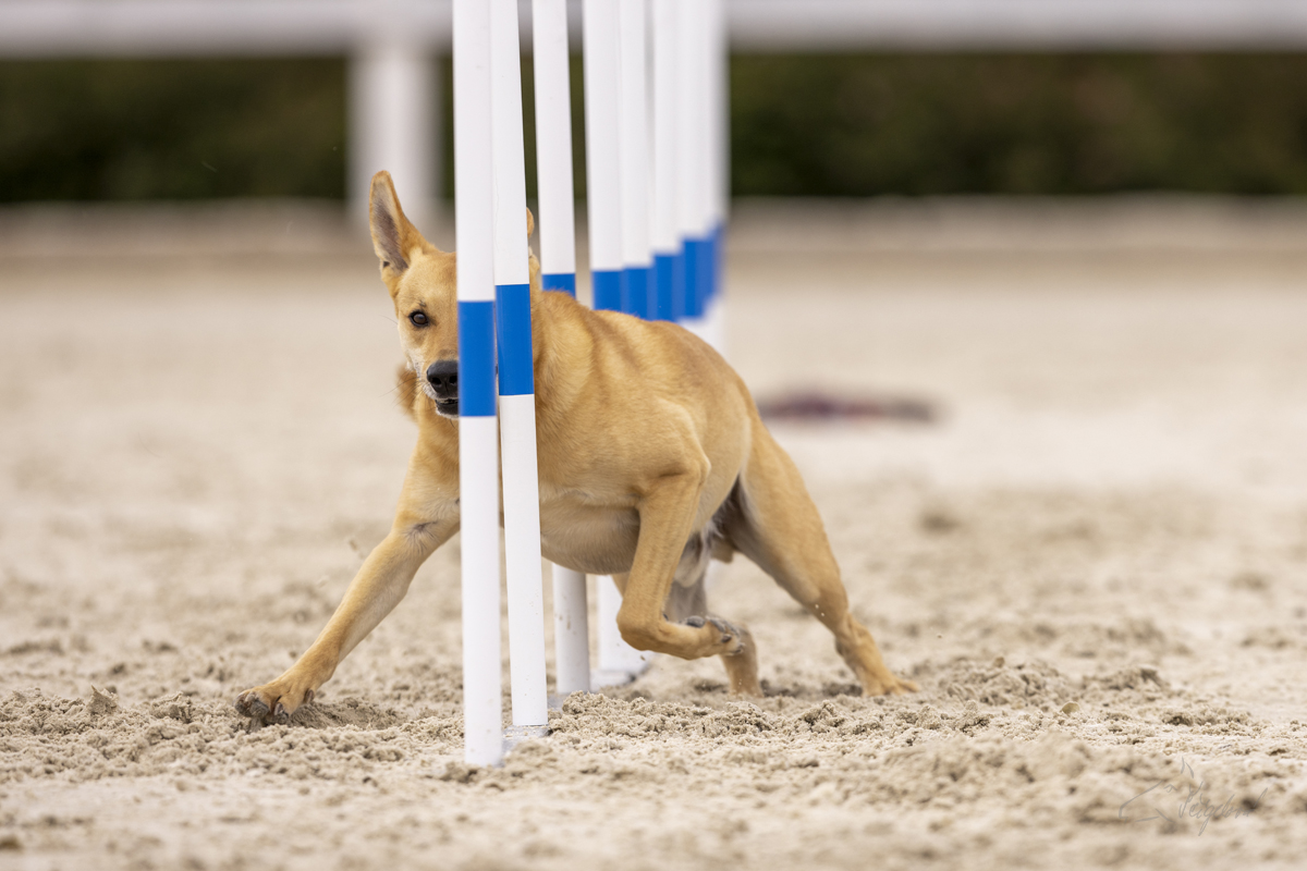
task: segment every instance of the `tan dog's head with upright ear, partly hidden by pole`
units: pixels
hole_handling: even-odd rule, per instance
[[[459,417],[459,304],[455,256],[422,238],[400,208],[389,172],[372,176],[372,249],[395,303],[400,347],[438,414]]]

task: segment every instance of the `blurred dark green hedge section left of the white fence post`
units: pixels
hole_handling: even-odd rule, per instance
[[[0,63],[0,202],[341,197],[345,64]]]

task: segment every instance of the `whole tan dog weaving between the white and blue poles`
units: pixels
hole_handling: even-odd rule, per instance
[[[243,713],[274,722],[312,700],[404,598],[422,562],[459,531],[455,255],[409,223],[387,172],[372,179],[370,214],[408,358],[401,393],[420,439],[395,524],[322,635],[285,674],[237,699]],[[890,673],[848,612],[795,464],[716,351],[674,324],[542,293],[535,257],[531,321],[541,548],[559,565],[617,580],[629,644],[682,659],[720,656],[733,693],[762,695],[753,637],[711,616],[703,588],[710,558],[740,551],[834,633],[867,693],[916,689]]]

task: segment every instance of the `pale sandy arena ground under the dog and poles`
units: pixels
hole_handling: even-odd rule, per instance
[[[1300,867],[1299,212],[741,210],[759,394],[941,409],[775,427],[921,692],[860,697],[737,560],[767,697],[661,659],[497,770],[461,763],[456,539],[290,726],[231,708],[414,437],[366,242],[115,215],[4,217],[0,868]]]

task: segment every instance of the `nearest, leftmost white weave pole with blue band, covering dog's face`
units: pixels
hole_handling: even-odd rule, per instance
[[[490,8],[482,0],[454,0],[463,734],[464,757],[473,765],[503,759],[490,128]]]

